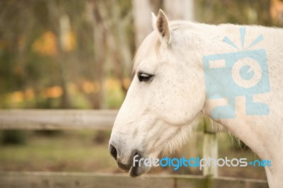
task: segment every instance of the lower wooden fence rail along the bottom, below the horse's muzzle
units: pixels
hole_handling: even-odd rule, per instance
[[[78,172],[0,172],[1,188],[50,187],[135,187],[135,188],[267,188],[264,180],[196,175],[151,175],[147,180],[132,179],[125,174],[109,175]]]

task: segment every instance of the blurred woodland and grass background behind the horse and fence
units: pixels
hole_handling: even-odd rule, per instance
[[[2,0],[0,108],[119,109],[134,52],[159,8],[169,20],[283,25],[282,0]],[[0,131],[0,171],[118,173],[109,137],[110,131]],[[218,139],[219,158],[258,158],[230,134]],[[175,155],[201,156],[202,132]],[[219,168],[219,175],[266,179],[263,168]]]

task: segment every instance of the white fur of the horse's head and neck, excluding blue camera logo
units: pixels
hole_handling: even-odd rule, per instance
[[[156,18],[154,20],[157,22]],[[127,163],[131,151],[155,158],[164,150],[182,145],[202,114],[209,116],[218,101],[207,100],[202,57],[237,52],[222,40],[228,36],[241,46],[239,25],[207,25],[187,21],[170,23],[171,42],[163,45],[154,30],[141,44],[134,59],[134,79],[117,115],[110,143],[118,158]],[[241,26],[243,27],[243,26]],[[262,34],[264,40],[251,49],[267,52],[270,93],[255,98],[270,107],[267,116],[248,116],[245,100],[236,98],[235,119],[214,119],[238,136],[262,159],[272,161],[265,168],[271,188],[283,184],[283,30],[261,26],[246,27],[250,44]],[[161,39],[162,40],[162,39]],[[149,82],[139,82],[139,71],[154,74]],[[233,89],[233,88],[226,88]],[[244,170],[244,168],[243,168]]]

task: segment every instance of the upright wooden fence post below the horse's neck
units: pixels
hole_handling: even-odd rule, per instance
[[[212,129],[212,120],[209,119],[204,124],[204,142],[203,142],[202,157],[218,159],[218,142],[216,132]],[[204,176],[217,177],[218,167],[214,161],[210,162],[210,166],[204,167],[202,171]]]

